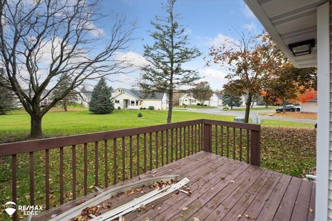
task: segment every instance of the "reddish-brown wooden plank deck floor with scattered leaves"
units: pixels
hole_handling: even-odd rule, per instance
[[[125,220],[313,220],[315,183],[283,175],[212,153],[200,152],[161,166],[124,183],[145,177],[179,174],[190,179],[192,195],[174,193],[148,204]],[[119,184],[120,185],[120,184]],[[147,191],[149,188],[145,186]],[[111,198],[111,209],[144,193]],[[39,214],[48,220],[84,200],[73,200]]]

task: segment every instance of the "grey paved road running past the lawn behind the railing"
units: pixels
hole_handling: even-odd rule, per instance
[[[174,110],[181,111],[181,110]],[[206,108],[206,109],[190,109],[187,108],[187,111],[196,112],[196,113],[210,113],[214,115],[226,115],[226,116],[234,116],[234,117],[244,117],[244,111],[223,111],[221,108]],[[250,111],[250,117],[257,115],[259,113],[275,113],[274,109],[260,110],[260,111]],[[277,116],[260,116],[261,119],[275,119],[284,122],[300,122],[300,123],[308,123],[308,124],[316,124],[315,119],[297,119],[290,117],[277,117]]]

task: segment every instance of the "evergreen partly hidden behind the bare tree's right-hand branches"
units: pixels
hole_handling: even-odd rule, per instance
[[[53,99],[57,99],[57,97],[62,97],[62,95],[67,94],[64,98],[57,102],[57,104],[62,106],[64,111],[68,111],[68,105],[76,104],[77,102],[77,93],[70,89],[72,81],[73,79],[71,79],[70,76],[63,74],[59,78],[59,81],[57,81],[56,88],[53,90]],[[66,90],[69,90],[69,92],[66,93]]]

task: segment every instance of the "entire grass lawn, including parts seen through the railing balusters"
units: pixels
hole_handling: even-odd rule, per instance
[[[150,126],[154,124],[165,124],[167,111],[124,111],[116,110],[108,115],[94,115],[89,111],[81,108],[82,111],[61,111],[53,109],[46,114],[43,119],[43,130],[46,137],[60,135],[73,135],[82,133],[93,133],[99,131],[109,131],[120,128],[131,128],[138,126]],[[71,109],[70,109],[71,110]],[[137,117],[138,113],[143,117]],[[232,121],[234,117],[211,115],[203,113],[192,113],[184,111],[174,111],[173,121],[185,121],[190,119],[219,119]],[[29,133],[29,116],[24,111],[13,111],[8,115],[0,116],[0,141],[9,142],[25,140]],[[286,126],[286,127],[285,127]],[[220,132],[220,131],[219,131]],[[224,132],[225,133],[225,132]],[[160,135],[160,134],[159,134]],[[232,134],[230,134],[232,135]],[[244,137],[244,136],[243,136]],[[152,138],[153,142],[155,137]],[[245,139],[245,137],[243,138]],[[214,139],[212,139],[214,140]],[[225,140],[224,140],[225,142]],[[135,144],[135,141],[134,141]],[[243,140],[243,144],[246,142]],[[111,144],[110,144],[111,145]],[[225,145],[224,145],[225,146]],[[232,140],[230,140],[232,146]],[[82,145],[80,146],[82,147]],[[99,176],[100,187],[103,186],[104,180],[104,146],[100,142],[100,151],[98,153],[100,161]],[[121,153],[118,145],[118,153]],[[126,141],[128,148],[128,140]],[[245,148],[245,147],[243,147]],[[155,149],[153,148],[155,155]],[[142,152],[142,151],[141,151]],[[126,149],[125,171],[129,173],[129,159],[127,155],[129,150]],[[76,168],[77,168],[77,197],[81,196],[83,185],[83,151],[77,146],[76,150]],[[133,148],[133,156],[136,155],[136,148]],[[142,154],[141,154],[142,155]],[[19,204],[29,204],[29,155],[22,154],[17,157],[17,187]],[[113,162],[113,153],[109,151],[109,162]],[[142,156],[140,156],[142,157]],[[45,156],[44,151],[34,154],[35,163],[35,203],[44,204],[44,171]],[[149,159],[149,157],[148,157]],[[118,165],[121,165],[122,155],[118,155]],[[141,159],[142,162],[142,159]],[[159,160],[160,162],[160,160]],[[0,158],[0,204],[10,200],[11,195],[11,157]],[[94,148],[93,144],[88,146],[88,186],[89,193],[94,191]],[[153,164],[155,161],[153,162]],[[71,148],[64,148],[64,190],[65,201],[71,200]],[[135,167],[135,159],[133,162]],[[142,166],[142,165],[141,165]],[[302,177],[308,170],[315,166],[315,131],[311,124],[302,124],[297,122],[282,122],[277,120],[264,120],[261,128],[261,166],[279,171],[289,175]],[[111,173],[111,172],[110,172]],[[109,175],[110,180],[111,174]],[[50,204],[59,205],[59,149],[50,150]],[[0,220],[8,218],[3,208],[0,209]]]

